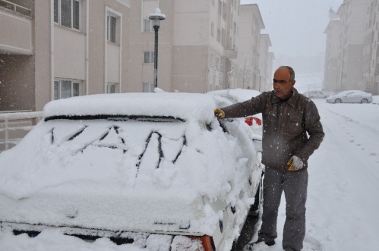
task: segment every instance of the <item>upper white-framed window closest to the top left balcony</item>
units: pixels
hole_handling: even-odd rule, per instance
[[[81,0],[54,0],[54,22],[80,30]]]

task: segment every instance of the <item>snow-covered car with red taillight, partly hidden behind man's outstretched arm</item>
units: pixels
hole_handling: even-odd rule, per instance
[[[250,100],[260,94],[260,91],[252,89],[223,89],[217,91],[208,91],[207,94],[214,96],[221,96],[227,98],[235,104],[237,102],[244,102]],[[221,107],[219,107],[221,108]],[[258,113],[254,116],[249,116],[245,118],[245,123],[249,125],[252,129],[254,137],[254,146],[257,151],[262,151],[262,134],[263,134],[263,124],[262,124],[262,113]]]

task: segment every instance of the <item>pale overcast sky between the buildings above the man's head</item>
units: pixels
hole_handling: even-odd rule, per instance
[[[325,52],[325,28],[329,8],[336,12],[343,0],[240,0],[258,4],[265,23],[261,33],[269,34],[270,52],[276,58],[316,56]]]

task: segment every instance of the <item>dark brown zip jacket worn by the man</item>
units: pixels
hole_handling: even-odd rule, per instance
[[[280,171],[288,168],[287,162],[293,155],[303,160],[305,166],[300,171],[305,170],[309,156],[324,138],[316,105],[296,89],[286,102],[281,102],[274,91],[267,91],[251,100],[221,109],[225,118],[262,113],[262,163]]]

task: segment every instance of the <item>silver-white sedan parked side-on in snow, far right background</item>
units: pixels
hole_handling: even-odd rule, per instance
[[[340,93],[329,96],[328,103],[370,103],[372,102],[372,94],[365,91],[341,91]]]

